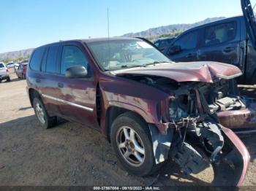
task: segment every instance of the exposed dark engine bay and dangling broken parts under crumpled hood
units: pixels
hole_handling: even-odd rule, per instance
[[[125,77],[171,95],[167,116],[162,116],[162,122],[166,122],[168,128],[173,128],[169,157],[180,166],[184,174],[198,174],[211,164],[215,168],[223,168],[225,164],[229,167],[226,171],[241,174],[242,157],[227,159],[232,153],[239,154],[222,133],[217,117],[217,112],[246,108],[244,101],[236,94],[233,79],[217,79],[214,83],[178,83],[165,77]],[[161,140],[156,141],[153,137],[153,142],[161,143]],[[164,142],[166,140],[162,141],[163,144]],[[236,161],[239,164],[235,167],[233,160],[238,158],[240,161]],[[234,179],[230,180],[232,181]]]

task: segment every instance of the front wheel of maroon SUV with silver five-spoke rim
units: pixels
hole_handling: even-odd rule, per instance
[[[132,139],[131,132],[135,135],[135,139]],[[154,162],[148,127],[136,114],[127,112],[118,116],[111,126],[110,140],[116,157],[129,174],[148,176],[158,170],[159,165]],[[129,155],[125,155],[126,153]]]

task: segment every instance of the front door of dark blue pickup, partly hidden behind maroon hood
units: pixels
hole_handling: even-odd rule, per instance
[[[176,62],[197,61],[198,34],[198,29],[181,34],[171,46],[180,47],[181,50],[170,55],[170,59]]]

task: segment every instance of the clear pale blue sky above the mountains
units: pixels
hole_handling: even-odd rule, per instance
[[[240,0],[0,0],[0,52],[241,15]]]

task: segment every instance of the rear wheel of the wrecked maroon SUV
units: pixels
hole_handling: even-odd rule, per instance
[[[34,113],[36,114],[37,119],[39,120],[39,123],[42,126],[42,128],[48,129],[56,125],[57,117],[50,117],[48,115],[48,112],[46,111],[45,106],[40,98],[34,97],[33,106]]]

